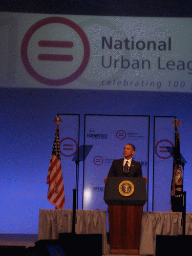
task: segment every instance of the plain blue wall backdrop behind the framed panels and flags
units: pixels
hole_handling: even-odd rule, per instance
[[[53,119],[57,113],[80,114],[80,145],[83,144],[84,114],[150,116],[149,210],[152,210],[153,196],[153,117],[177,116],[182,123],[179,127],[181,154],[187,161],[184,190],[187,191],[186,204],[190,212],[191,102],[189,93],[1,89],[0,233],[37,233],[39,208],[54,208],[47,201],[46,178],[56,128]],[[172,173],[172,169],[166,172]],[[75,169],[71,170],[72,180],[74,175]],[[161,176],[166,176],[164,169],[159,173]],[[69,176],[65,179],[65,169],[63,178],[64,185],[70,183],[71,190],[75,188]],[[83,164],[80,162],[79,209],[82,179]],[[167,180],[169,186],[170,183]],[[71,199],[66,198],[66,207],[72,208]]]

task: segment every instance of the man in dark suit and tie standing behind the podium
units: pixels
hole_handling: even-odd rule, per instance
[[[132,159],[135,154],[135,146],[126,144],[124,147],[124,158],[114,160],[109,170],[108,177],[143,177],[141,164]],[[104,179],[106,182],[107,177]],[[147,178],[145,178],[147,182]]]

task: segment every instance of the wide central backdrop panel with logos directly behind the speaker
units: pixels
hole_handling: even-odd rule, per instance
[[[84,144],[93,147],[84,160],[83,209],[106,209],[104,177],[112,161],[123,158],[126,143],[136,146],[133,158],[148,176],[149,120],[148,116],[85,115]]]

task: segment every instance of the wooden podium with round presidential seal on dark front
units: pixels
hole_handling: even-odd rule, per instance
[[[109,206],[110,253],[139,254],[145,179],[108,177],[104,201]]]

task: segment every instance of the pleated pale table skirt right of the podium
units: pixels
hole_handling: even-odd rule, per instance
[[[155,254],[156,234],[178,236],[182,234],[181,212],[143,212],[140,238],[140,255]],[[192,214],[186,214],[186,232],[192,235]]]

